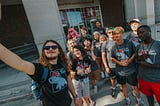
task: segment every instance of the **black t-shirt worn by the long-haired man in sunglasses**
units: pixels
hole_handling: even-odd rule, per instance
[[[41,78],[44,67],[34,63],[35,73],[29,75],[33,80],[42,85],[42,102],[44,106],[70,106],[71,98],[68,93],[67,76],[69,72],[62,64],[52,65],[53,70],[49,70],[47,80],[42,84]]]

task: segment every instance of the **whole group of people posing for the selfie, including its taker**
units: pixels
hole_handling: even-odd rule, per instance
[[[87,34],[85,27],[81,28],[81,35],[70,28],[67,55],[59,43],[47,40],[37,63],[21,59],[0,44],[0,59],[42,86],[44,106],[70,106],[70,95],[76,106],[94,106],[90,83],[97,91],[96,84],[103,69],[110,76],[112,97],[116,96],[118,82],[125,105],[130,105],[128,83],[136,96],[137,106],[144,105],[140,91],[146,95],[149,106],[154,106],[154,96],[160,105],[160,42],[152,39],[150,27],[142,25],[140,20],[133,19],[129,24],[133,31],[126,36],[121,26],[106,28],[104,34],[104,28],[97,23],[93,36]],[[44,67],[49,73],[42,83]]]

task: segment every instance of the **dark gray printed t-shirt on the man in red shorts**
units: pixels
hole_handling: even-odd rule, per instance
[[[141,43],[136,52],[138,56],[148,54],[147,58],[143,61],[151,65],[160,65],[160,41],[153,40],[149,46]],[[146,81],[160,82],[160,67],[154,68],[139,65],[138,75]]]

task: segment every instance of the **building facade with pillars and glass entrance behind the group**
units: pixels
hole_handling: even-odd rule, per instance
[[[69,27],[78,32],[86,26],[92,33],[95,20],[104,27],[139,18],[150,25],[155,38],[160,32],[159,0],[1,0],[0,40],[8,47],[35,43],[40,50],[47,39],[66,48]]]

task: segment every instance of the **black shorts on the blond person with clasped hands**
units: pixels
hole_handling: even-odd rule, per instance
[[[117,74],[117,82],[119,84],[130,84],[132,86],[137,86],[138,85],[138,80],[137,80],[137,73],[134,72],[129,76],[121,76]]]

